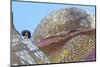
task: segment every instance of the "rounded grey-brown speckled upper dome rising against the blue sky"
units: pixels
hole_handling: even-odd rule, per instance
[[[92,15],[78,8],[63,8],[51,12],[38,25],[33,34],[33,41],[39,42],[46,37],[59,34],[62,31],[95,28]]]

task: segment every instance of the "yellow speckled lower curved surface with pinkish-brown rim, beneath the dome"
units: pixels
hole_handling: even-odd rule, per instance
[[[95,30],[92,29],[72,32],[63,37],[50,36],[38,43],[51,63],[95,61],[95,45]],[[89,59],[92,52],[94,55]]]

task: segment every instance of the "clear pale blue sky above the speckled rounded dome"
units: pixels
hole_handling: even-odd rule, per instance
[[[30,30],[34,32],[41,20],[50,12],[60,8],[77,7],[95,15],[94,6],[77,6],[62,4],[46,4],[31,2],[12,2],[13,23],[17,31]]]

